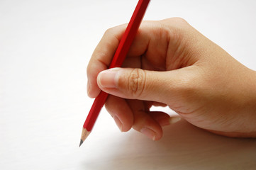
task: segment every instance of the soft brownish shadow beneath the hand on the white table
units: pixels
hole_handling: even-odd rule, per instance
[[[91,169],[252,169],[256,140],[211,134],[181,120],[164,128],[154,142],[129,132],[114,142],[107,161],[90,162]],[[104,157],[106,159],[106,157]]]

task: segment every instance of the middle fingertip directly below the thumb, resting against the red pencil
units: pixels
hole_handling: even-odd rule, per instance
[[[123,98],[109,95],[105,108],[111,114],[121,132],[127,132],[133,126],[133,112]]]

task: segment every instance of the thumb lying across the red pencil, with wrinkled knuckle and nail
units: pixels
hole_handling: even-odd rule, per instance
[[[121,98],[157,101],[167,105],[171,101],[177,101],[184,93],[186,81],[180,70],[155,72],[113,68],[100,72],[97,77],[99,88],[108,94]]]

